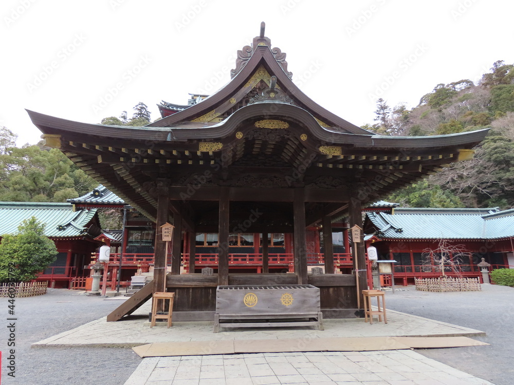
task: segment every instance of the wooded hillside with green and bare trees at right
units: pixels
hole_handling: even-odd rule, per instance
[[[495,62],[479,84],[437,84],[418,106],[391,108],[377,101],[374,124],[386,135],[441,135],[490,128],[471,161],[453,163],[437,175],[384,199],[410,207],[514,207],[514,65]]]

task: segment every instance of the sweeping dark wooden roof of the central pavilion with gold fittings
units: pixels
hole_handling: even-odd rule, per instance
[[[285,53],[271,48],[263,27],[252,46],[238,51],[232,75],[201,102],[181,110],[174,105],[178,111],[143,127],[28,113],[46,145],[60,148],[151,219],[162,178],[177,200],[217,199],[216,188],[230,186],[234,200],[255,195],[245,189],[267,188],[275,190],[267,198],[260,193],[260,199],[291,201],[292,189],[303,188],[311,202],[350,197],[373,202],[451,162],[470,159],[473,146],[487,134],[486,129],[390,137],[357,127],[310,100],[291,81]]]

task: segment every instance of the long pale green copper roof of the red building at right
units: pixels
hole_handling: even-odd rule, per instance
[[[514,209],[395,208],[394,214],[367,213],[388,239],[499,239],[514,236]]]

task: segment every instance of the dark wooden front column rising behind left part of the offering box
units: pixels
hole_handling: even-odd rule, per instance
[[[229,187],[219,189],[218,285],[228,285]]]

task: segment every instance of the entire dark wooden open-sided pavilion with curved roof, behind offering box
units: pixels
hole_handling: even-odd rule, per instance
[[[231,80],[195,103],[161,105],[144,127],[86,124],[28,111],[47,146],[156,222],[152,287],[108,320],[130,314],[152,291],[175,292],[174,319],[212,319],[218,285],[312,284],[325,318],[359,317],[367,288],[363,235],[354,270],[335,274],[332,226],[347,217],[362,228],[364,204],[472,157],[487,130],[431,137],[389,137],[361,129],[309,99],[292,81],[286,54],[261,33],[237,51]],[[196,97],[196,98],[195,98]],[[358,102],[358,101],[356,101]],[[161,226],[174,225],[167,258]],[[323,227],[324,272],[307,271],[306,228]],[[217,234],[217,269],[195,272],[197,234]],[[261,234],[261,273],[229,265],[234,235]],[[272,238],[292,240],[293,272],[271,273]],[[183,239],[189,240],[182,250]],[[180,274],[181,252],[188,274]],[[171,273],[166,275],[166,265]],[[151,285],[147,285],[151,286]],[[359,309],[360,308],[360,309]]]

